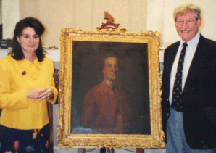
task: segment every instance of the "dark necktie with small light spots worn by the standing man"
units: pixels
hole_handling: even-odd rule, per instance
[[[173,86],[172,93],[172,108],[178,112],[182,112],[182,72],[183,72],[183,62],[186,53],[187,43],[183,44],[183,49],[180,53],[180,58],[178,61],[178,68],[175,75],[175,82]]]

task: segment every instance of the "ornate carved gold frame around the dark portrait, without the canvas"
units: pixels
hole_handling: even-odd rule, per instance
[[[164,148],[161,111],[161,78],[159,73],[159,33],[145,31],[84,31],[62,29],[59,71],[59,109],[57,145],[59,148]],[[72,134],[72,43],[73,41],[147,43],[149,67],[149,108],[151,134]]]

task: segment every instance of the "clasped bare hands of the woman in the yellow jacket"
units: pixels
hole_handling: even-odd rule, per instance
[[[54,91],[51,90],[50,87],[47,88],[34,88],[32,90],[27,91],[27,97],[30,99],[38,99],[39,101],[49,96],[53,97]]]

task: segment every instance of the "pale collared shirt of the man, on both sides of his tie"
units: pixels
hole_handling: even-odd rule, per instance
[[[191,41],[187,42],[188,46],[186,48],[186,54],[185,54],[184,63],[183,63],[182,90],[183,90],[184,85],[186,83],[188,70],[189,70],[189,68],[191,66],[191,62],[193,60],[193,57],[194,57],[194,54],[195,54],[195,51],[196,51],[196,47],[197,47],[197,44],[199,42],[199,37],[200,37],[200,33],[198,32],[196,34],[196,36]],[[184,41],[181,39],[180,40],[180,45],[179,45],[179,48],[178,48],[178,52],[176,54],[175,60],[174,60],[173,65],[172,65],[172,71],[170,73],[170,96],[169,96],[170,104],[172,104],[173,85],[174,85],[174,81],[175,81],[175,75],[176,75],[176,71],[177,71],[180,52],[181,52],[181,50],[183,48],[183,43],[184,43]]]

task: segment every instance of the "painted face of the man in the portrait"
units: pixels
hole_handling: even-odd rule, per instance
[[[116,57],[107,57],[104,60],[104,77],[107,80],[114,81],[118,72],[118,64]]]

